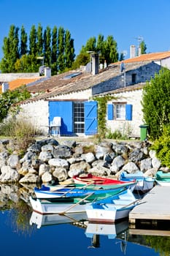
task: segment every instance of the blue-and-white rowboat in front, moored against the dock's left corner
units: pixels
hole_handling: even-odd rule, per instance
[[[131,190],[125,189],[117,195],[89,203],[85,206],[85,210],[89,221],[117,222],[128,218],[129,212],[138,202],[139,200],[136,200]]]

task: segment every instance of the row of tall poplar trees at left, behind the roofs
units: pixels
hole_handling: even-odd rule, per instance
[[[27,42],[28,40],[28,42]],[[43,29],[41,24],[31,27],[30,34],[24,27],[20,30],[14,25],[10,26],[8,37],[4,37],[4,56],[0,62],[1,72],[38,72],[39,67],[45,64],[51,67],[55,75],[70,69],[74,62],[74,40],[68,30],[54,26],[52,33],[49,26]],[[39,57],[43,61],[39,61]]]

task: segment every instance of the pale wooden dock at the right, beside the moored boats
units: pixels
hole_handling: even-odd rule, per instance
[[[141,204],[130,212],[129,224],[133,226],[136,222],[150,222],[157,225],[160,221],[170,222],[170,187],[156,185],[143,197]]]

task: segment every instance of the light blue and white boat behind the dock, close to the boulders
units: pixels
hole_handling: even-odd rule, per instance
[[[136,185],[134,187],[134,191],[139,191],[142,193],[150,191],[154,186],[155,178],[144,176],[142,171],[138,171],[136,173],[126,173],[123,171],[120,173],[119,177],[120,181],[136,181]]]

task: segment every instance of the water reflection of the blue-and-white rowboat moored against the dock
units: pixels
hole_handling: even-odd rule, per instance
[[[114,239],[125,230],[128,230],[127,219],[118,223],[88,222],[85,236],[93,238],[93,235],[101,235],[107,236],[109,239]]]

